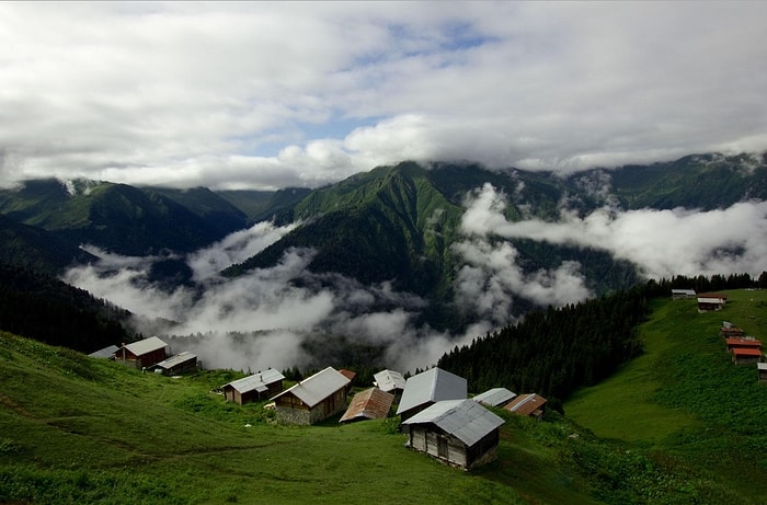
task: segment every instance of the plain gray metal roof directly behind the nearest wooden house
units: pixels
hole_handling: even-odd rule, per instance
[[[411,377],[404,385],[397,413],[440,400],[466,400],[466,379],[442,368],[431,368]]]

